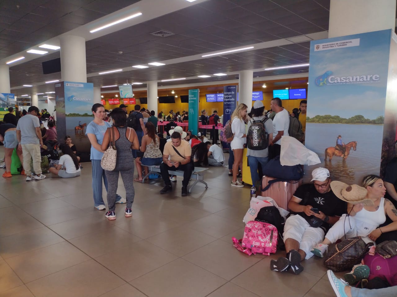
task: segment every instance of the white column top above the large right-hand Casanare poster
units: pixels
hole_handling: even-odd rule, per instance
[[[395,28],[395,0],[331,0],[328,38]]]

